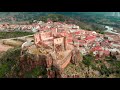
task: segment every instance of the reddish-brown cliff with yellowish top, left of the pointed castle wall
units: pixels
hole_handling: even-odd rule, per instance
[[[21,68],[22,72],[31,71],[32,69],[34,69],[37,66],[43,66],[47,70],[48,78],[55,78],[55,77],[60,78],[61,77],[61,73],[63,71],[61,69],[55,67],[55,65],[54,65],[55,64],[54,61],[57,62],[57,60],[54,60],[53,56],[50,53],[46,53],[46,51],[44,49],[41,50],[40,48],[31,46],[31,47],[29,47],[28,50],[25,50],[22,52],[23,53],[20,58],[20,68]],[[71,56],[70,56],[70,58],[71,58]],[[59,62],[59,63],[56,63],[56,65],[58,65],[58,66],[60,66],[61,64],[64,65],[64,63],[66,64],[66,60],[67,60],[67,58],[65,59],[65,62]],[[69,58],[68,58],[68,60],[69,60]],[[54,67],[54,69],[53,69],[53,67]]]

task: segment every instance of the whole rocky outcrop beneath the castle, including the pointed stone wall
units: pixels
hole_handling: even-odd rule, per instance
[[[50,50],[47,52],[47,49],[44,47],[33,45],[22,52],[20,67],[23,72],[31,71],[37,66],[43,66],[46,68],[48,78],[61,78],[65,77],[65,75],[63,75],[64,69],[71,62],[74,66],[74,68],[71,68],[71,71],[73,71],[72,74],[74,75],[67,75],[67,78],[86,77],[85,75],[88,69],[84,74],[81,73],[79,63],[83,60],[83,57],[77,49],[52,54]]]

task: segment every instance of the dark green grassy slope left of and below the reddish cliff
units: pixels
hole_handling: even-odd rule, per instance
[[[0,57],[0,78],[20,78],[20,73],[23,73],[19,67],[20,51],[20,47],[15,47],[2,53]],[[41,66],[25,72],[24,78],[38,78],[40,75],[45,75],[45,69]]]

